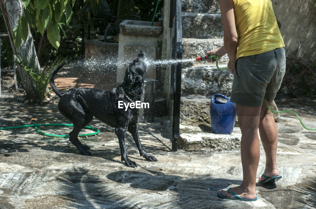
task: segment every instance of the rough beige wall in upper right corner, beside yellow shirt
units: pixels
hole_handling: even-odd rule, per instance
[[[309,0],[272,1],[288,57],[312,62],[316,59],[316,7]]]

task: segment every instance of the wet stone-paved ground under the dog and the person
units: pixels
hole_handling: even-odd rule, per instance
[[[280,110],[297,112],[307,127],[316,128],[316,99],[278,98]],[[30,105],[8,96],[0,102],[0,127],[36,123],[69,123],[57,102]],[[199,124],[197,124],[198,126]],[[240,151],[171,152],[167,118],[139,123],[143,147],[157,158],[145,161],[128,134],[128,156],[137,168],[120,161],[114,129],[94,119],[100,133],[80,138],[92,156],[80,155],[67,138],[50,138],[31,127],[0,131],[0,208],[315,208],[316,131],[303,129],[296,117],[277,121],[277,163],[283,178],[257,185],[258,201],[230,201],[217,192],[242,181]],[[235,127],[237,128],[237,127]],[[67,134],[69,128],[40,127],[46,133]],[[91,130],[84,130],[89,133]],[[201,130],[202,131],[202,130]],[[257,172],[264,171],[261,156]]]

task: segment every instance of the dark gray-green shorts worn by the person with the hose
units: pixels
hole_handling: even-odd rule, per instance
[[[285,49],[278,48],[236,60],[230,101],[249,107],[272,101],[285,74]]]

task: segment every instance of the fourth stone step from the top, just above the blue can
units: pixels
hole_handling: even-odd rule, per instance
[[[207,63],[208,64],[208,63]],[[234,76],[229,70],[220,71],[214,64],[182,68],[182,93],[230,96]],[[227,65],[219,65],[220,68]]]

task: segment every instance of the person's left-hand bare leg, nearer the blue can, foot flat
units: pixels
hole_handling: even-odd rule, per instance
[[[236,195],[247,198],[256,198],[256,176],[260,158],[258,126],[261,107],[236,105],[238,124],[241,130],[241,164],[243,181],[240,186],[231,189]],[[222,195],[234,197],[222,190]]]

